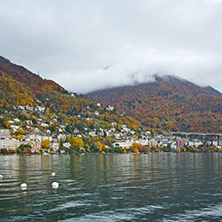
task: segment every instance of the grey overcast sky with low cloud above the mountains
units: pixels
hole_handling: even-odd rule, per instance
[[[0,0],[0,54],[69,91],[176,75],[222,92],[222,0]]]

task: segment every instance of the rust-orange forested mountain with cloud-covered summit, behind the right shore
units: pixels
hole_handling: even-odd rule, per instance
[[[86,95],[151,128],[167,131],[222,132],[222,94],[173,76],[154,82],[99,90]]]

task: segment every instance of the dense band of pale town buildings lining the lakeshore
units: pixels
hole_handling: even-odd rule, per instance
[[[132,130],[130,130],[131,132]],[[172,150],[177,148],[182,149],[185,145],[191,147],[200,147],[203,145],[213,145],[217,149],[222,148],[222,140],[200,140],[200,139],[188,139],[188,138],[181,138],[179,136],[164,136],[164,135],[156,135],[154,137],[150,136],[150,132],[146,131],[143,132],[142,135],[138,136],[135,135],[135,132],[131,132],[132,134],[129,136],[129,129],[125,126],[122,126],[122,130],[120,132],[115,132],[115,128],[112,127],[109,130],[99,129],[98,132],[91,131],[88,133],[88,136],[99,136],[104,135],[104,132],[107,136],[115,138],[116,141],[112,144],[113,147],[120,147],[120,148],[129,148],[132,146],[133,143],[139,143],[143,146],[149,147],[170,147]],[[77,137],[83,137],[85,135],[79,134],[79,131],[76,130]],[[66,141],[67,134],[59,134],[59,135],[42,135],[40,133],[29,133],[26,134],[21,139],[11,138],[10,131],[8,129],[0,129],[0,149],[6,148],[7,150],[16,150],[20,145],[30,145],[31,151],[38,152],[42,149],[42,142],[44,140],[49,140],[50,145],[49,149],[51,151],[56,152],[59,149],[59,140]],[[63,144],[66,147],[69,147],[70,144],[65,143]]]

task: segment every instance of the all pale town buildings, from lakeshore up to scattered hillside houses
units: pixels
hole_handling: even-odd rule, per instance
[[[100,104],[97,104],[100,107]],[[89,109],[89,107],[86,107]],[[20,145],[30,145],[32,152],[38,152],[42,149],[42,142],[44,140],[50,141],[48,149],[51,151],[56,152],[59,149],[58,141],[64,141],[63,146],[70,147],[70,144],[65,143],[67,136],[69,135],[66,131],[67,124],[58,124],[57,119],[58,117],[54,115],[53,118],[45,119],[47,116],[44,114],[45,107],[37,106],[37,107],[29,107],[29,106],[18,106],[22,112],[38,112],[38,118],[36,119],[36,123],[42,129],[36,127],[36,124],[33,124],[31,120],[23,120],[26,124],[26,133],[22,135],[21,138],[16,139],[11,137],[11,133],[9,129],[0,129],[0,149],[6,148],[7,150],[16,150]],[[112,111],[114,110],[113,106],[107,106],[106,110]],[[98,111],[94,111],[91,117],[85,118],[86,121],[92,121],[93,118],[98,117],[100,114]],[[81,118],[80,115],[78,115]],[[13,120],[9,120],[10,129],[16,133],[20,130],[20,121],[18,118],[14,118]],[[56,125],[57,133],[52,134],[49,129],[50,124]],[[121,127],[121,129],[119,129]],[[118,129],[117,129],[118,128]],[[69,132],[70,133],[70,132]],[[113,147],[120,147],[120,148],[129,148],[132,146],[133,143],[139,143],[143,146],[149,147],[168,147],[172,150],[177,148],[182,149],[185,145],[191,147],[200,147],[203,145],[212,145],[218,149],[222,148],[222,140],[220,140],[220,136],[218,136],[217,140],[206,140],[203,139],[188,139],[186,133],[174,133],[170,136],[164,135],[156,135],[151,136],[150,131],[138,132],[134,131],[133,129],[128,128],[126,125],[121,125],[117,127],[117,123],[111,123],[111,127],[109,129],[103,129],[99,126],[96,128],[84,128],[84,131],[80,131],[79,129],[74,129],[72,135],[75,137],[97,137],[97,136],[107,136],[114,140],[116,140],[112,146]],[[198,135],[200,136],[203,135]],[[206,135],[204,135],[206,136]],[[197,138],[197,137],[196,137]]]

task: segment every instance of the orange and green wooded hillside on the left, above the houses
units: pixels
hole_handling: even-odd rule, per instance
[[[69,131],[83,131],[85,128],[109,128],[112,122],[125,124],[138,130],[140,122],[132,117],[122,115],[117,110],[108,111],[82,95],[70,95],[59,84],[52,80],[42,79],[22,66],[11,63],[0,57],[0,106],[1,113],[15,110],[21,106],[42,106],[48,118],[58,117],[59,123],[69,124]],[[34,110],[34,109],[33,109]],[[97,118],[92,118],[98,112]],[[10,111],[7,113],[15,113]],[[38,113],[33,111],[38,117]],[[10,120],[9,114],[3,115]],[[31,115],[30,115],[31,118]]]

